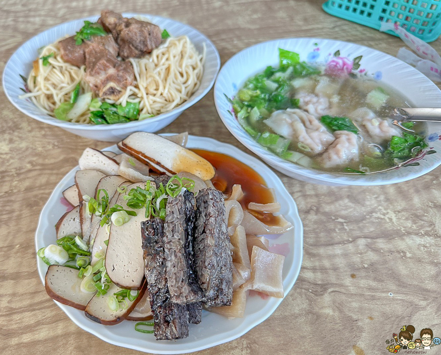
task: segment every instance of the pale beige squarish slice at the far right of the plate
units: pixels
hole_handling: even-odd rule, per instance
[[[282,269],[285,256],[254,246],[251,254],[253,290],[283,298]]]

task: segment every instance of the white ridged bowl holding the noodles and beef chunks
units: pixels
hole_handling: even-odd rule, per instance
[[[160,16],[123,13],[124,17],[139,15],[147,17],[152,23],[159,25],[161,28],[166,28],[174,37],[187,35],[199,52],[203,51],[203,46],[205,45],[206,57],[202,82],[190,100],[170,112],[143,121],[132,121],[115,125],[85,125],[60,121],[40,111],[32,101],[19,99],[19,96],[23,94],[20,90],[20,87],[23,87],[23,80],[20,78],[20,75],[28,76],[32,68],[32,62],[37,57],[37,50],[49,43],[55,42],[66,34],[75,34],[75,31],[78,31],[78,29],[84,25],[85,20],[96,22],[98,16],[92,16],[52,27],[25,42],[25,44],[11,56],[3,72],[3,88],[9,101],[27,116],[38,121],[61,127],[82,137],[106,142],[121,141],[130,133],[136,131],[156,132],[170,125],[184,110],[194,105],[208,93],[219,72],[221,58],[214,44],[202,33],[189,25],[184,25],[180,22]]]

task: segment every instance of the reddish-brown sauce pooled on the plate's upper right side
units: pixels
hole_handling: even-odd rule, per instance
[[[250,212],[258,220],[269,226],[279,224],[279,217],[274,216],[272,213],[262,213],[248,209],[248,203],[250,202],[275,202],[271,189],[255,170],[226,154],[201,149],[192,149],[192,151],[208,160],[215,168],[216,174],[211,179],[214,187],[225,195],[231,195],[233,185],[240,184],[244,197],[239,203],[244,211]]]

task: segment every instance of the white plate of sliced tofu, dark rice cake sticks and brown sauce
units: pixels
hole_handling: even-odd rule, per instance
[[[80,328],[182,354],[268,318],[298,276],[302,234],[293,198],[259,160],[206,137],[135,132],[83,152],[35,243],[49,296]]]

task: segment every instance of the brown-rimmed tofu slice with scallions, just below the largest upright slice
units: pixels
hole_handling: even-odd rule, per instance
[[[141,229],[141,228],[140,228]],[[106,326],[113,326],[122,322],[135,308],[136,304],[142,298],[143,294],[138,296],[135,301],[129,301],[127,298],[127,308],[120,307],[118,310],[113,311],[109,308],[108,299],[109,296],[113,296],[114,293],[121,291],[122,288],[111,283],[107,293],[103,296],[96,294],[87,304],[84,313],[86,317],[94,322],[104,324]]]

